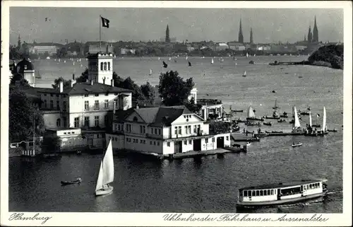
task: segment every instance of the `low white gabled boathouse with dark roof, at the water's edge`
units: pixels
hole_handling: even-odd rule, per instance
[[[230,146],[230,133],[213,135],[209,124],[184,106],[116,111],[112,132],[114,150],[168,155]]]

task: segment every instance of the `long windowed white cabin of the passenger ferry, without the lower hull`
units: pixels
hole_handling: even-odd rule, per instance
[[[266,202],[281,199],[294,199],[306,195],[325,192],[323,180],[302,180],[239,189],[239,202]]]

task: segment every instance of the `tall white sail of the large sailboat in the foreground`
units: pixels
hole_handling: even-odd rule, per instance
[[[114,160],[113,160],[113,149],[112,140],[109,141],[107,151],[105,151],[104,157],[100,162],[100,173],[98,174],[97,186],[95,190],[101,190],[104,185],[113,182],[114,180]]]

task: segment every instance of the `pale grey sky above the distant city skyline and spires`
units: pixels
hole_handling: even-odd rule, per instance
[[[250,28],[256,43],[304,40],[314,16],[319,40],[343,40],[340,8],[54,8],[11,7],[10,43],[18,35],[25,42],[87,42],[100,37],[100,15],[109,19],[103,41],[160,40],[169,25],[177,40],[229,42],[238,40],[242,21],[244,42]],[[47,18],[47,21],[45,20]]]

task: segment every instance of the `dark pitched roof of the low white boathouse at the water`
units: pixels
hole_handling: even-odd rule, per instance
[[[150,126],[161,127],[170,126],[174,120],[177,120],[183,114],[193,114],[184,105],[171,107],[149,107],[149,108],[130,108],[128,110],[116,110],[114,122],[124,122],[126,117],[136,112]]]

